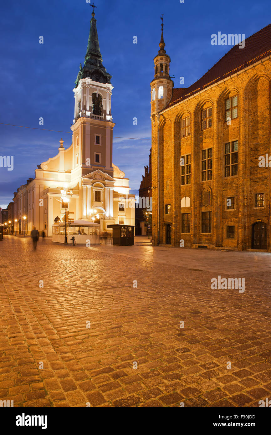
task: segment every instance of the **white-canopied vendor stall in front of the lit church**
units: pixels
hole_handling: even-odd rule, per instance
[[[75,244],[100,244],[100,224],[94,224],[90,221],[78,219],[74,222],[67,222],[67,242]],[[64,243],[65,240],[65,222],[57,222],[53,225],[52,241]],[[89,242],[88,242],[89,241]]]

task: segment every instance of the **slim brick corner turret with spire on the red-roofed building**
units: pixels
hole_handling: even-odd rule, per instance
[[[160,112],[171,99],[174,85],[169,76],[171,58],[166,54],[163,27],[164,24],[162,23],[160,50],[157,56],[154,57],[154,80],[151,81],[151,117],[153,119],[154,115]]]

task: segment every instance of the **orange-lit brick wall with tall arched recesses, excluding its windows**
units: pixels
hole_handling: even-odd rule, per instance
[[[153,80],[152,86],[158,80]],[[161,81],[161,80],[159,80]],[[161,110],[159,116],[160,175],[160,243],[166,242],[166,224],[172,224],[173,246],[184,240],[185,247],[249,249],[252,225],[261,220],[268,225],[270,243],[270,168],[259,167],[258,157],[271,155],[270,143],[270,57],[253,67],[235,74],[222,83],[207,88],[190,99]],[[167,87],[170,80],[163,79]],[[225,99],[238,95],[238,117],[225,121]],[[159,103],[159,107],[158,107]],[[157,111],[161,100],[151,102],[152,118],[152,186],[157,186]],[[212,107],[212,127],[201,130],[201,110]],[[191,134],[181,138],[181,119],[191,117]],[[238,174],[225,177],[225,144],[238,141]],[[202,150],[212,148],[212,180],[201,181]],[[180,157],[191,154],[191,184],[181,185]],[[169,181],[169,183],[167,183]],[[203,192],[210,191],[209,204],[202,203]],[[158,197],[153,189],[153,226],[157,244]],[[255,207],[255,194],[264,193],[264,207]],[[181,198],[191,199],[190,207],[181,207]],[[227,210],[227,197],[235,198],[235,206]],[[171,204],[171,214],[165,214],[165,204]],[[203,211],[211,211],[210,234],[201,232]],[[181,233],[181,214],[191,213],[191,233]],[[227,227],[234,226],[234,238],[227,237]],[[153,228],[154,235],[154,228]],[[154,237],[153,237],[154,238]]]

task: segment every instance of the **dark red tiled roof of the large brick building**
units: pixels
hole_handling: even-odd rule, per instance
[[[166,107],[172,107],[179,101],[184,100],[190,95],[196,94],[200,90],[207,88],[213,83],[223,80],[242,69],[250,66],[254,62],[271,54],[271,24],[254,33],[245,39],[244,48],[234,45],[223,57],[204,76],[197,80],[190,87],[173,88],[172,97]]]

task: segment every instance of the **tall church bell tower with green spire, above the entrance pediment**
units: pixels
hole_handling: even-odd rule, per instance
[[[73,172],[81,176],[97,169],[113,177],[111,76],[103,66],[94,9],[84,66],[74,87]]]

